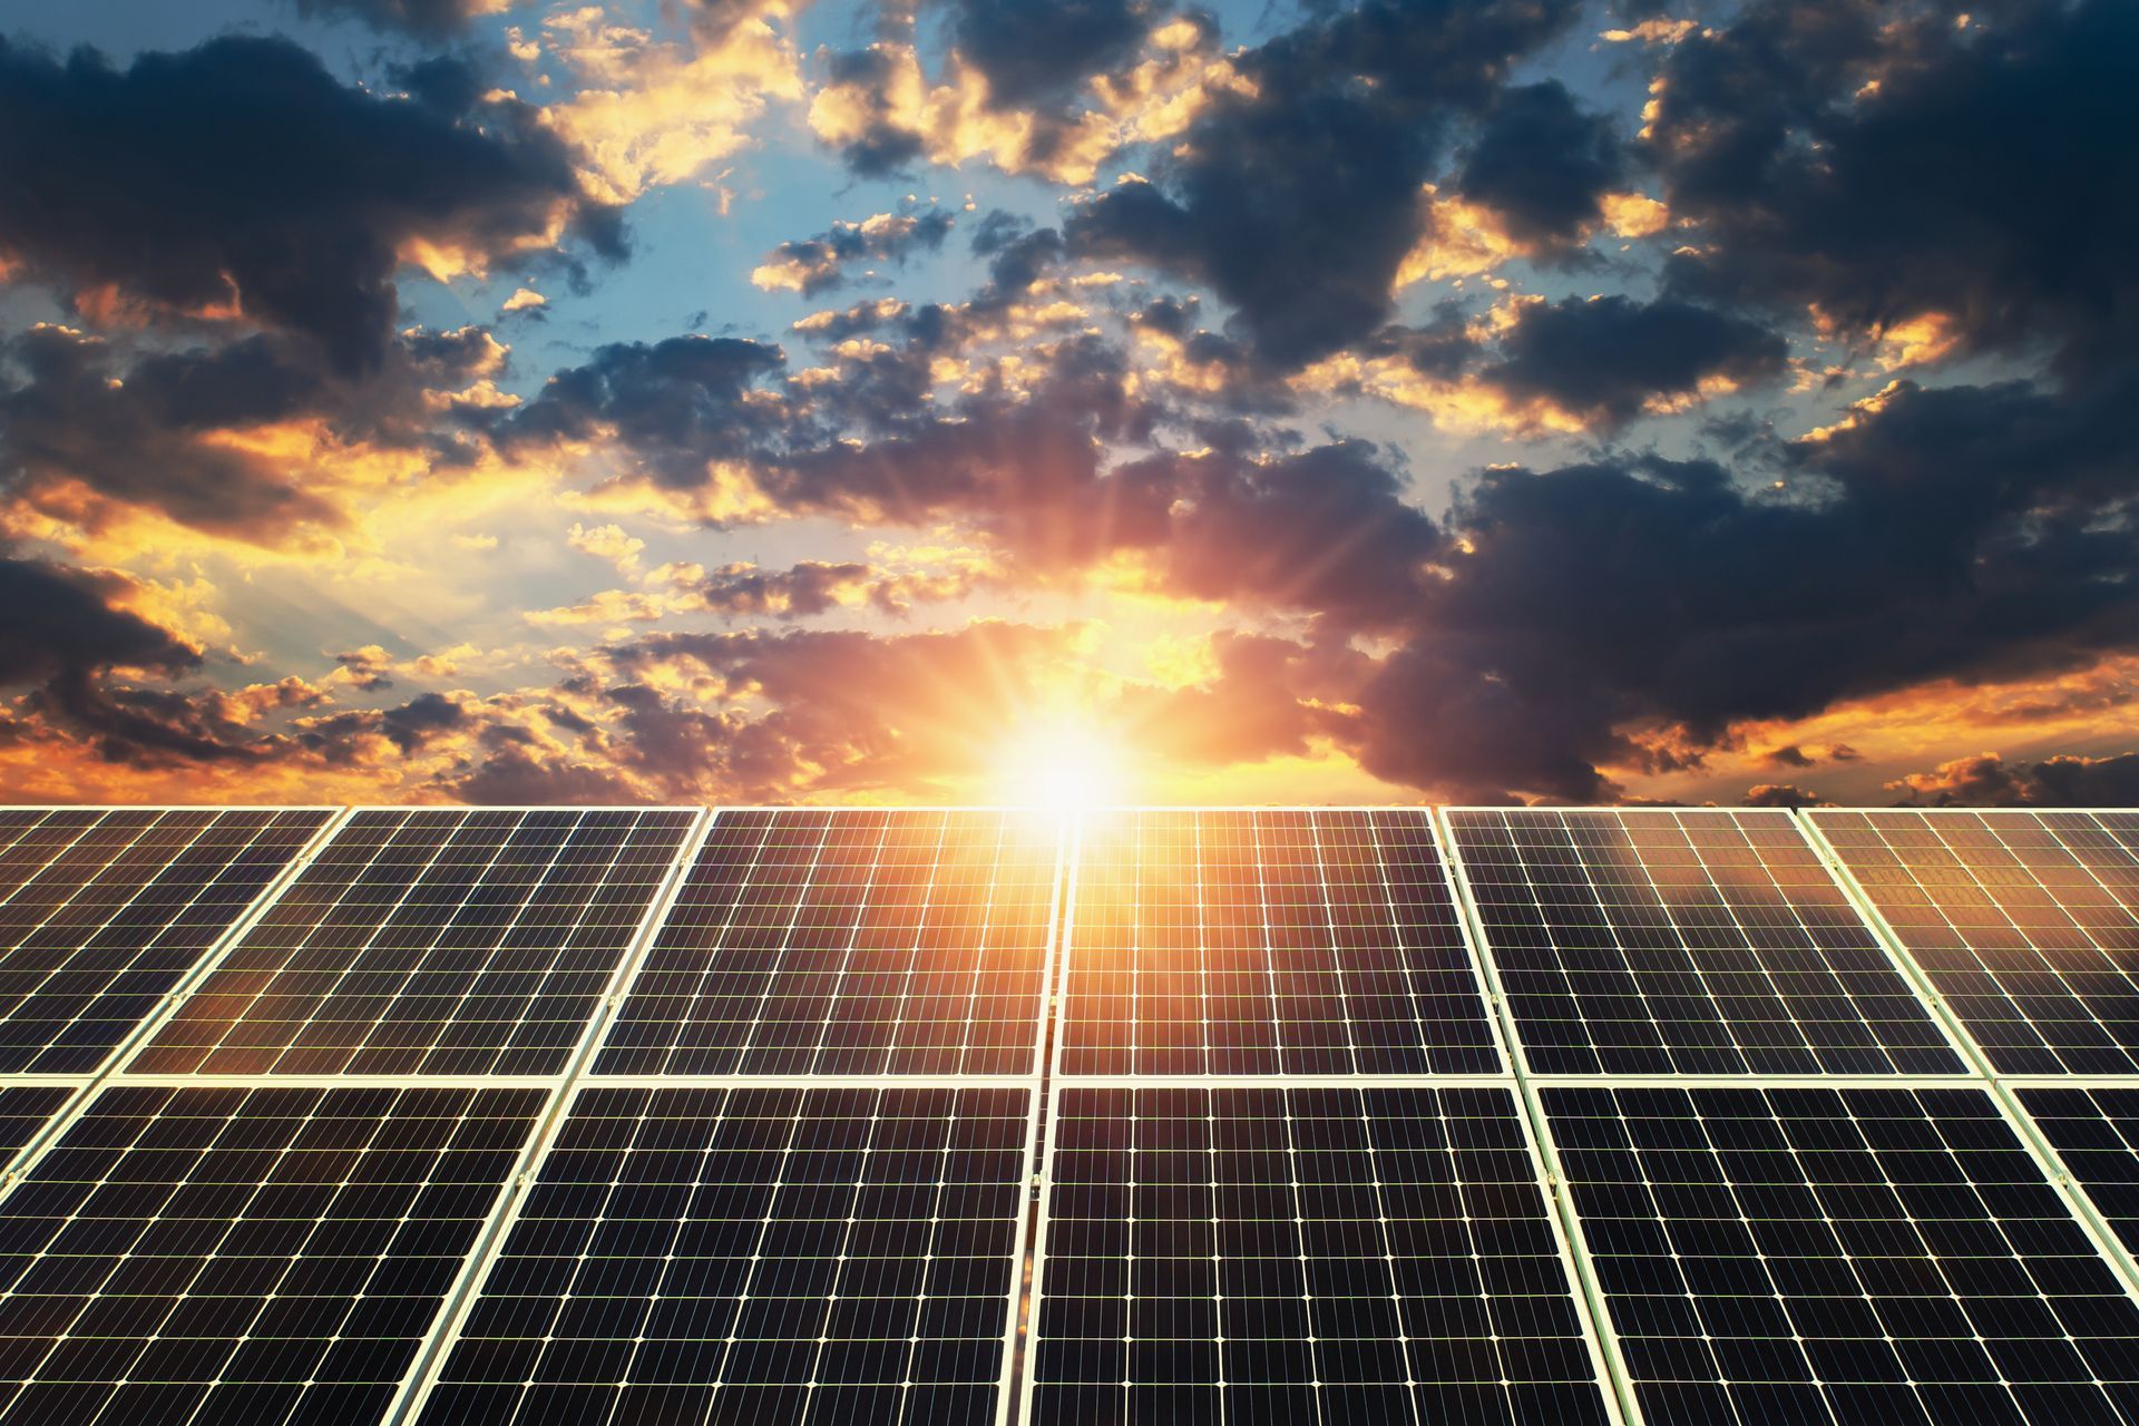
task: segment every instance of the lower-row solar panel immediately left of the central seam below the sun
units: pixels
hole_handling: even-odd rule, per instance
[[[992,1422],[1027,1088],[586,1088],[424,1422]]]

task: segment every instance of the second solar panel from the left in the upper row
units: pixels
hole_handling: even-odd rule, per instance
[[[139,1073],[558,1073],[695,812],[364,810]]]

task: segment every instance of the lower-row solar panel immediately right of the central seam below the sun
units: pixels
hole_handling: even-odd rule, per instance
[[[1604,1422],[1506,1088],[1063,1088],[1035,1422]]]

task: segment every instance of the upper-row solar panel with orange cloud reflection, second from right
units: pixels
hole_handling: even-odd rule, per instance
[[[1788,812],[1452,810],[1534,1073],[1959,1073]]]

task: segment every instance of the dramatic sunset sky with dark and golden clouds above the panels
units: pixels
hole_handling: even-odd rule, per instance
[[[2139,802],[2122,0],[0,0],[0,800]]]

